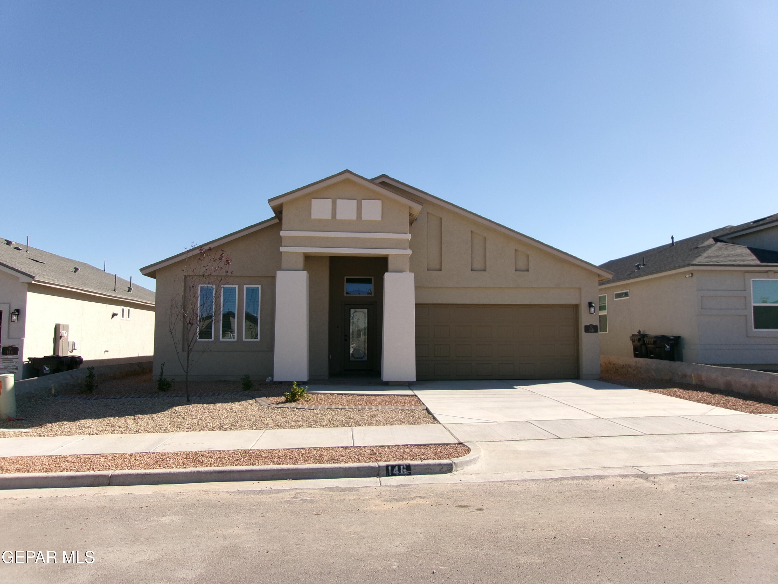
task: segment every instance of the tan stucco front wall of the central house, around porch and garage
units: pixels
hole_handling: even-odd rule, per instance
[[[382,219],[370,220],[312,220],[310,199],[380,199],[383,201]],[[599,376],[600,339],[597,334],[584,333],[584,325],[596,324],[597,315],[590,315],[587,303],[596,302],[598,275],[584,266],[562,259],[550,252],[541,251],[499,230],[449,211],[433,202],[425,202],[419,219],[410,227],[411,270],[415,272],[415,301],[420,303],[468,303],[468,304],[575,304],[578,306],[580,331],[580,371],[584,378]],[[247,234],[219,246],[233,260],[232,280],[225,283],[260,283],[261,293],[261,343],[244,341],[208,341],[204,352],[193,370],[194,379],[239,378],[245,373],[258,378],[273,375],[273,308],[275,307],[275,273],[279,269],[305,269],[309,273],[309,367],[312,378],[328,375],[328,261],[326,256],[307,256],[304,262],[289,253],[282,267],[281,230],[351,231],[366,233],[407,233],[407,204],[397,202],[388,195],[380,195],[353,181],[302,195],[283,203],[283,223]],[[426,212],[439,216],[442,239],[441,269],[427,269],[428,244]],[[335,215],[333,215],[335,216]],[[359,216],[359,206],[358,206]],[[475,234],[475,235],[473,235]],[[482,245],[481,271],[474,271],[471,254],[472,241]],[[368,247],[401,248],[407,239],[378,237],[283,237],[283,245],[293,247]],[[391,243],[388,243],[391,241]],[[336,245],[337,244],[337,245]],[[403,271],[398,262],[390,262],[391,271]],[[170,338],[167,320],[170,299],[183,288],[181,263],[158,269],[157,307],[160,318],[156,323],[154,371],[166,363],[166,375],[180,378],[183,371],[177,364],[176,350]],[[239,297],[239,314],[243,310],[242,293]],[[218,318],[216,321],[218,327]],[[205,347],[205,345],[202,345]]]

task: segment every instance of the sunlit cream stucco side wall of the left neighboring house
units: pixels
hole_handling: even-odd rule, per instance
[[[44,357],[54,351],[54,325],[70,325],[74,355],[84,361],[145,357],[153,350],[155,314],[152,308],[124,301],[114,303],[86,294],[28,284],[24,358]],[[121,316],[130,308],[130,318]]]

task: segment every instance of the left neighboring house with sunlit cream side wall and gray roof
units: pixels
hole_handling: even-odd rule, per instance
[[[30,357],[55,351],[86,365],[151,361],[153,337],[152,290],[0,239],[0,372],[34,377]]]

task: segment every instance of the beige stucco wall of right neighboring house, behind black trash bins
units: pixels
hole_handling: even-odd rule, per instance
[[[778,364],[778,331],[754,331],[751,315],[752,278],[775,276],[766,270],[694,268],[601,287],[600,293],[608,294],[602,354],[632,357],[629,335],[640,329],[682,336],[685,362]],[[621,290],[629,290],[629,298],[614,301],[613,293]]]

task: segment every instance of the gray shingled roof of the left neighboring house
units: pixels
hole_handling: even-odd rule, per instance
[[[19,276],[23,282],[79,290],[117,301],[154,304],[153,290],[133,283],[130,292],[129,281],[117,277],[114,291],[114,274],[42,249],[30,248],[27,252],[26,245],[10,239],[0,238],[0,269]]]

